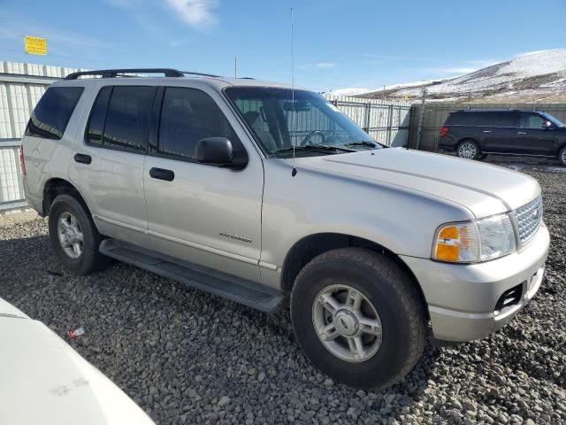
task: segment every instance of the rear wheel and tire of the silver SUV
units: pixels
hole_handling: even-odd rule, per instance
[[[65,230],[69,227],[71,230]],[[103,236],[96,230],[87,205],[76,197],[59,195],[54,199],[50,208],[49,229],[53,250],[71,273],[91,274],[111,264],[111,259],[98,251]],[[61,232],[65,235],[60,236]],[[82,242],[78,237],[80,234]],[[75,243],[71,241],[79,244],[80,248],[75,249]],[[69,246],[65,246],[67,243],[70,243]]]

